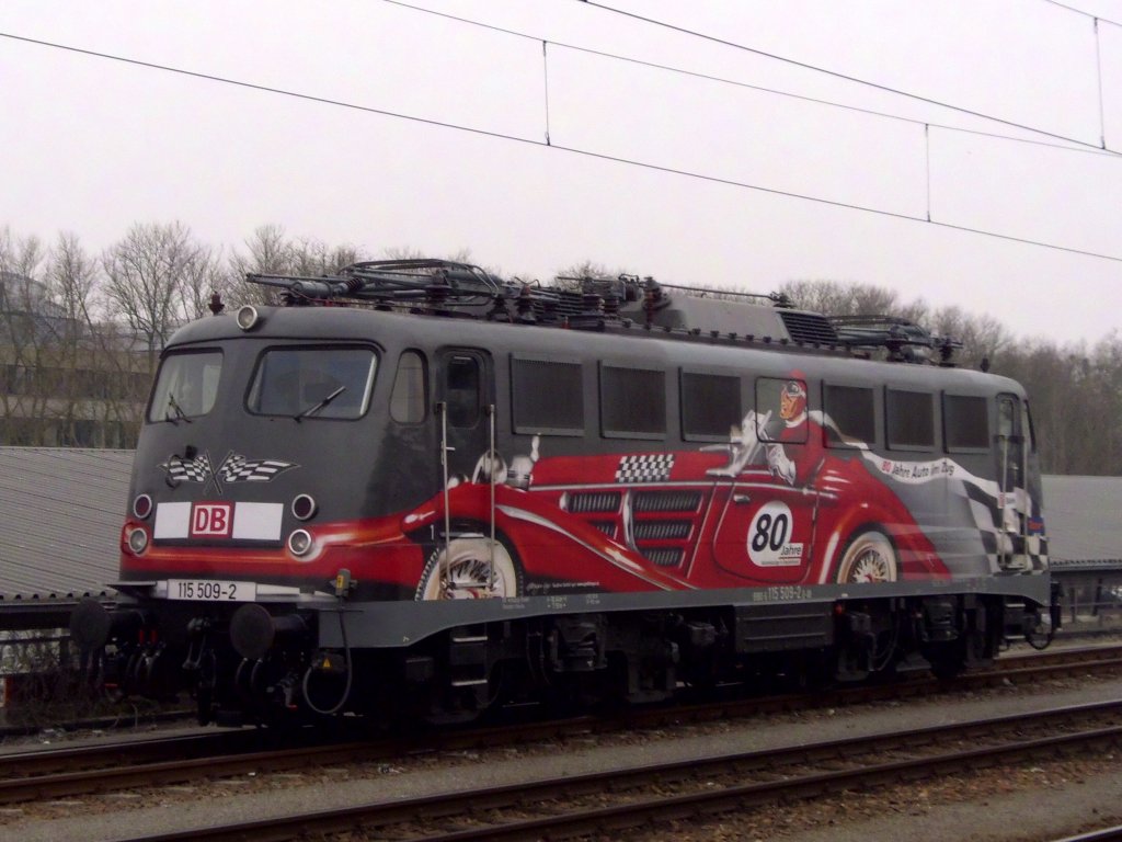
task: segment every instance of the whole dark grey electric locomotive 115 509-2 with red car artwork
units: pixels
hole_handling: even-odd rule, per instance
[[[249,280],[280,304],[164,349],[119,603],[72,617],[122,692],[462,719],[951,676],[1058,625],[1027,396],[916,326],[443,260]]]

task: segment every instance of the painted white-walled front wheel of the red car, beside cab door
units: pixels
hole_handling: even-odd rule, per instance
[[[439,547],[432,553],[421,574],[416,598],[488,600],[518,596],[522,592],[522,568],[506,544],[499,540],[493,544],[484,536],[461,536],[448,544],[447,551]]]

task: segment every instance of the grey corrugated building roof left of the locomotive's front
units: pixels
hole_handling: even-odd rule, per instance
[[[131,450],[0,447],[0,607],[117,579]]]

